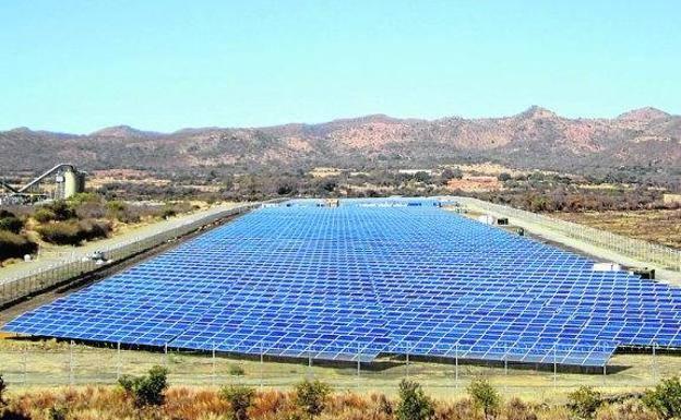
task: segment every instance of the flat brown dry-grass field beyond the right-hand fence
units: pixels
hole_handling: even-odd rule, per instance
[[[550,216],[681,249],[681,209],[553,213]]]

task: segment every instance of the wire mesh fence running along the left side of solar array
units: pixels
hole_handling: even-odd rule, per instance
[[[195,215],[195,217],[190,217],[189,219],[171,220],[167,228],[160,232],[152,233],[146,237],[134,237],[113,245],[103,247],[100,251],[106,260],[123,260],[158,247],[164,242],[172,241],[222,218],[250,212],[260,205],[260,203],[249,203],[237,205],[231,208],[211,209],[205,214]],[[19,275],[15,278],[3,279],[3,281],[0,283],[0,307],[26,296],[38,293],[104,266],[105,265],[100,262],[98,263],[83,255],[76,256],[73,254],[53,265],[28,271],[28,273]]]

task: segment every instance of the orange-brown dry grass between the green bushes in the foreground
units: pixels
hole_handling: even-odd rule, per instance
[[[61,410],[65,419],[115,420],[203,420],[230,419],[227,401],[215,388],[175,386],[165,393],[159,407],[135,408],[132,398],[118,386],[61,387],[49,391],[26,391],[11,396],[8,407],[0,409],[0,419],[51,420],[50,411]],[[434,399],[433,420],[485,420],[481,411],[466,397],[453,400]],[[383,394],[337,392],[325,404],[320,420],[394,420],[398,401]],[[12,417],[13,416],[13,417]],[[292,393],[259,391],[248,409],[250,419],[284,420],[307,418],[296,406]],[[499,420],[569,420],[574,416],[564,405],[528,403],[511,397],[500,407]],[[601,406],[597,420],[658,420],[656,413],[638,400],[624,400]]]

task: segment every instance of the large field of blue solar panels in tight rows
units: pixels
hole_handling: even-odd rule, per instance
[[[681,291],[437,200],[267,206],[27,312],[35,336],[369,362],[380,355],[605,365],[681,347]]]

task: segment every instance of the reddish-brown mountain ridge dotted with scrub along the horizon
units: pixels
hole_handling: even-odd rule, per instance
[[[56,161],[85,169],[244,172],[313,166],[432,167],[492,160],[519,168],[681,167],[681,117],[655,108],[617,118],[574,119],[533,106],[511,117],[437,120],[384,115],[264,128],[196,128],[174,133],[128,125],[87,135],[0,132],[0,165],[39,170]]]

